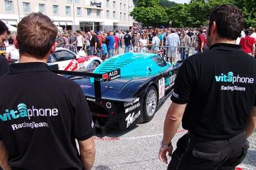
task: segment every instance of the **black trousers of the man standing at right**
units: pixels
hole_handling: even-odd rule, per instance
[[[167,170],[234,170],[248,148],[245,132],[221,141],[188,133],[178,140]]]

